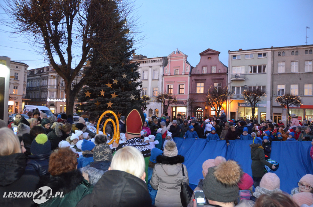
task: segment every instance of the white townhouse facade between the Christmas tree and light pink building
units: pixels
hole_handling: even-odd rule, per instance
[[[164,66],[167,65],[167,57],[147,58],[143,55],[133,55],[131,62],[138,62],[140,81],[142,82],[141,95],[147,95],[150,97],[150,101],[146,105],[147,109],[144,113],[147,117],[161,115],[161,103],[154,101],[158,93],[162,92],[162,76]]]

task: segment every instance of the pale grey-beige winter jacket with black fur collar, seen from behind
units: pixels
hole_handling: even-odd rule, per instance
[[[159,155],[156,160],[158,163],[154,166],[150,181],[151,187],[158,190],[155,205],[157,207],[181,207],[182,165],[186,183],[189,184],[187,168],[182,164],[184,157],[182,155],[174,157]]]

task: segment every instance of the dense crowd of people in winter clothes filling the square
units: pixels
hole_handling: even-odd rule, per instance
[[[0,206],[156,206],[181,207],[181,185],[189,184],[184,157],[173,138],[210,140],[253,140],[252,177],[236,161],[219,156],[206,160],[203,179],[194,190],[203,190],[204,206],[313,206],[313,175],[305,174],[291,192],[280,190],[280,178],[264,171],[274,141],[311,141],[312,123],[299,122],[292,114],[285,126],[281,120],[226,120],[224,111],[213,119],[176,119],[167,113],[147,118],[134,107],[121,116],[120,139],[113,142],[112,114],[82,114],[47,117],[38,109],[20,114],[9,124],[0,120]],[[96,125],[99,123],[99,133]],[[17,133],[13,128],[17,127]],[[110,144],[110,145],[109,145]],[[5,196],[9,192],[35,192],[48,186],[63,197],[37,204],[32,197]],[[298,186],[298,187],[296,187]],[[43,192],[44,193],[44,192]],[[197,206],[194,197],[189,207]]]

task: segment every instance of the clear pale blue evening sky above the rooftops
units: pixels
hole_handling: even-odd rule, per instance
[[[307,26],[307,44],[313,44],[312,0],[137,0],[135,5],[144,38],[134,47],[136,54],[148,58],[167,56],[178,48],[195,67],[199,53],[211,48],[221,52],[220,61],[228,65],[228,50],[305,45]],[[0,56],[22,61],[28,69],[48,65],[31,44],[4,32],[8,30],[0,25]]]

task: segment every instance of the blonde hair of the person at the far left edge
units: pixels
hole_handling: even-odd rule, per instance
[[[9,128],[0,129],[0,156],[7,156],[21,152],[18,137]]]

